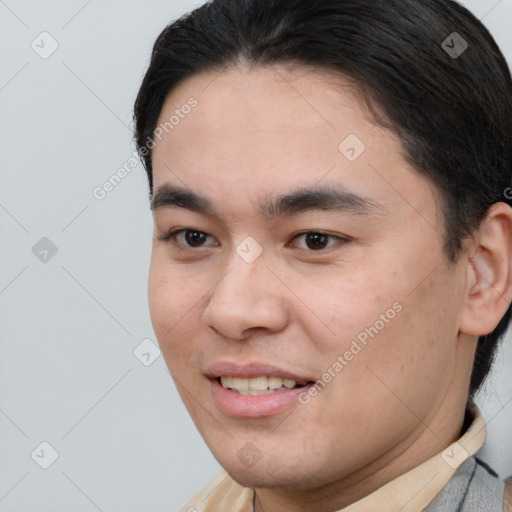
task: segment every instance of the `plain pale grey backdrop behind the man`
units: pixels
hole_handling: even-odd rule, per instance
[[[150,350],[145,366],[134,355],[156,344],[142,165],[93,196],[133,155],[132,106],[155,38],[201,3],[0,0],[2,512],[173,511],[221,469],[162,356]],[[512,0],[463,3],[511,63]],[[44,31],[58,43],[47,58]],[[55,255],[32,252],[43,237]],[[478,400],[480,456],[502,477],[512,474],[511,369],[509,332]],[[48,469],[42,442],[58,453]]]

